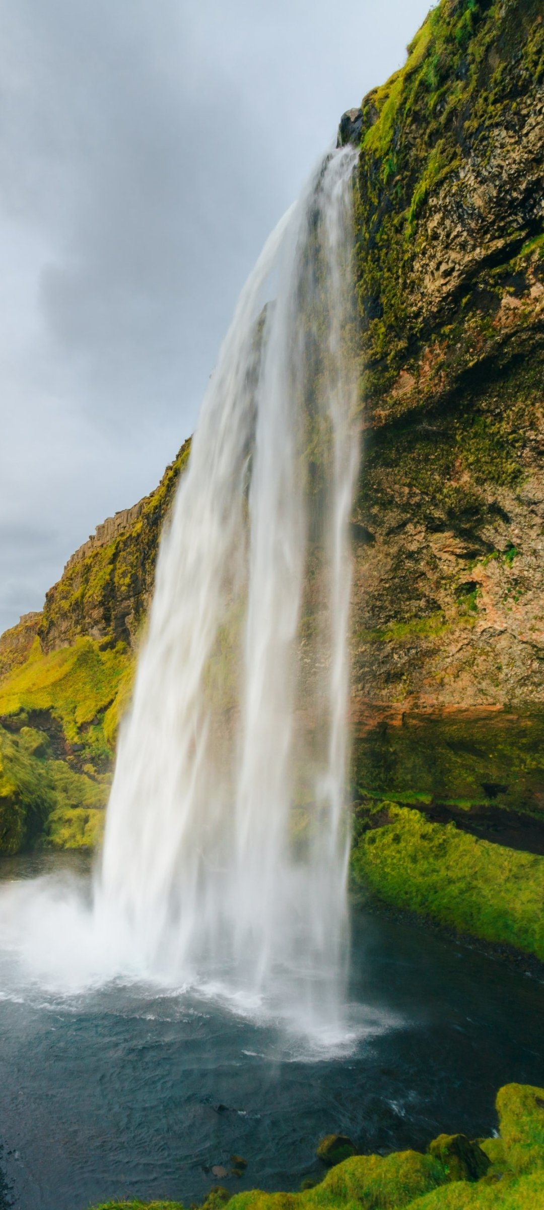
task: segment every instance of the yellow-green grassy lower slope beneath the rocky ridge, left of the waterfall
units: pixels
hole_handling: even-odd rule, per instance
[[[103,650],[79,639],[42,655],[36,640],[0,681],[0,853],[99,842],[131,674],[122,644]]]

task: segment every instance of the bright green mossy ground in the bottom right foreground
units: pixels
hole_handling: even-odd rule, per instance
[[[390,1156],[353,1156],[332,1168],[325,1179],[302,1193],[264,1193],[251,1189],[230,1198],[231,1210],[542,1210],[544,1206],[544,1089],[507,1084],[497,1096],[499,1139],[485,1140],[490,1168],[478,1181],[458,1180],[450,1140],[440,1136],[442,1159],[430,1150],[393,1152]],[[207,1210],[221,1200],[210,1194]],[[179,1203],[149,1203],[179,1210]],[[140,1202],[108,1203],[108,1210],[137,1210]],[[106,1210],[102,1206],[100,1210]]]

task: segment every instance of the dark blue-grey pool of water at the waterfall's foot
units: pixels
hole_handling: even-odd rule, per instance
[[[58,860],[58,859],[57,859]],[[4,877],[35,872],[4,863]],[[544,986],[409,924],[353,916],[351,997],[369,1026],[352,1054],[311,1060],[278,1030],[196,997],[110,986],[0,999],[0,1137],[19,1210],[112,1197],[201,1199],[322,1175],[316,1143],[423,1148],[488,1135],[509,1081],[544,1084]],[[0,1182],[0,1205],[2,1188]]]

